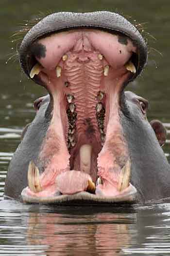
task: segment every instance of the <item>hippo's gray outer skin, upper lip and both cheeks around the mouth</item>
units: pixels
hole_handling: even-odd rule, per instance
[[[138,49],[138,53],[133,56],[136,74],[126,81],[124,87],[129,81],[134,80],[146,65],[147,45],[136,27],[122,16],[111,12],[55,13],[38,22],[21,43],[19,60],[26,75],[29,76],[36,63],[34,56],[43,55],[43,51],[33,47],[37,39],[46,37],[50,33],[75,28],[96,28],[113,34],[117,33],[120,39],[128,37],[133,41]],[[34,76],[33,80],[44,86],[38,76]],[[131,92],[124,93],[124,88],[122,88],[119,114],[132,160],[130,182],[137,189],[137,200],[143,202],[170,197],[170,165],[152,126],[141,110],[140,101],[146,102]],[[4,192],[4,195],[8,197],[19,199],[23,188],[28,185],[27,172],[31,160],[39,170],[42,170],[37,158],[50,124],[53,99],[48,95],[36,101],[35,105],[38,106],[37,102],[40,103],[40,108],[37,107],[39,110],[24,132],[23,139],[9,165]]]

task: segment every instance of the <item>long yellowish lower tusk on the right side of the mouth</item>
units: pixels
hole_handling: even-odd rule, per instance
[[[118,184],[119,191],[122,191],[129,186],[130,175],[131,175],[131,160],[128,159],[124,167],[121,169],[119,184]]]

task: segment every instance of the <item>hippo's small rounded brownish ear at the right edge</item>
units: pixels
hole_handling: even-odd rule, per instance
[[[165,126],[159,120],[152,120],[150,124],[153,128],[153,131],[155,132],[156,138],[159,141],[159,145],[163,146],[167,138],[167,130]]]

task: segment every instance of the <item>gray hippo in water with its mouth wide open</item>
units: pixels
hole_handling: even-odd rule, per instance
[[[114,204],[170,197],[166,130],[148,101],[125,91],[143,71],[147,44],[117,13],[59,12],[19,48],[25,74],[48,95],[10,162],[5,198],[45,204]]]

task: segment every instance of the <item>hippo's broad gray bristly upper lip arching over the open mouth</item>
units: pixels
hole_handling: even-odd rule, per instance
[[[142,71],[147,62],[147,45],[139,31],[124,17],[117,13],[99,11],[91,13],[54,13],[39,21],[24,37],[19,48],[19,60],[23,71],[30,76],[30,71],[35,64],[31,45],[37,39],[48,36],[49,34],[68,31],[76,28],[94,28],[107,31],[113,34],[120,34],[131,39],[137,46],[137,59],[134,59],[136,73],[129,79],[134,80]],[[37,77],[36,83],[42,84]]]

